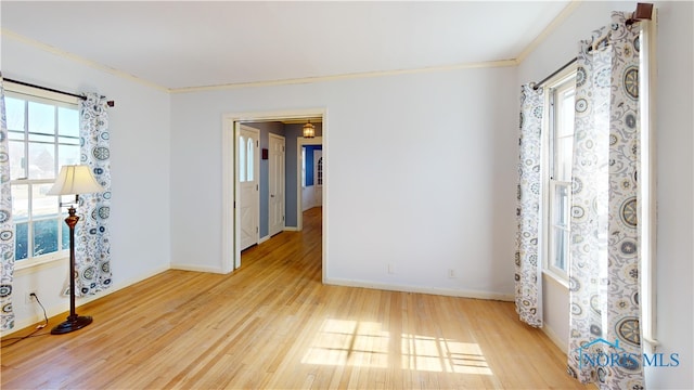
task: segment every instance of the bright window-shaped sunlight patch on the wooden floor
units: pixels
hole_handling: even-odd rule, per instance
[[[323,322],[301,363],[387,368],[390,347],[402,369],[492,375],[477,343],[409,334],[391,340],[380,323],[333,318]]]

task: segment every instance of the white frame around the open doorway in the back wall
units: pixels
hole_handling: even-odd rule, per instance
[[[323,136],[323,160],[327,160],[329,153],[329,138],[327,138],[327,110],[325,108],[305,108],[305,109],[292,109],[292,110],[274,110],[274,112],[248,112],[248,113],[235,113],[224,114],[222,116],[222,223],[221,223],[221,245],[222,245],[222,259],[221,265],[224,273],[230,273],[234,270],[234,265],[241,265],[241,250],[239,249],[240,232],[239,232],[239,216],[235,209],[235,202],[239,199],[239,185],[236,183],[236,166],[235,159],[235,140],[237,139],[236,132],[240,129],[240,122],[242,121],[272,121],[272,120],[285,120],[285,119],[301,119],[301,118],[314,118],[322,117],[322,131]],[[297,139],[297,144],[304,140]],[[300,150],[299,150],[300,152]],[[300,153],[297,156],[297,160],[300,159]],[[298,167],[299,176],[297,177],[297,185],[300,191],[300,169]],[[329,246],[329,229],[327,218],[330,210],[330,174],[329,165],[323,165],[323,252],[322,258],[322,281],[325,282],[325,270],[327,268],[327,246]],[[297,203],[300,204],[300,197],[297,198]],[[300,208],[300,206],[298,206]],[[297,214],[297,223],[301,221],[301,212],[299,210]]]

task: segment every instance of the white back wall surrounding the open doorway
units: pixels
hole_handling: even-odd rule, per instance
[[[507,298],[516,90],[497,67],[174,94],[171,206],[196,208],[172,264],[222,269],[222,115],[324,107],[327,282]]]

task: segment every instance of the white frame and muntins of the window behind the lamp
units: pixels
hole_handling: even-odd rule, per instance
[[[49,104],[53,107],[64,107],[70,109],[79,110],[79,99],[74,96],[64,95],[61,93],[55,93],[51,91],[44,91],[38,88],[27,87],[18,83],[14,83],[11,81],[3,82],[4,94],[7,98],[20,99],[27,102],[35,102],[40,104]],[[56,108],[54,108],[56,109]],[[24,129],[24,151],[25,156],[27,155],[27,150],[29,147],[29,134],[28,129],[26,128],[26,115],[25,113],[25,129]],[[56,118],[57,119],[57,118]],[[54,126],[59,126],[59,121],[56,120]],[[9,129],[8,129],[9,130]],[[28,233],[27,233],[27,257],[21,260],[16,259],[15,255],[15,270],[21,271],[25,269],[35,268],[38,265],[49,264],[55,261],[65,260],[69,257],[69,247],[63,248],[63,234],[66,226],[64,226],[64,219],[67,217],[67,210],[61,207],[61,203],[70,203],[74,202],[74,198],[70,196],[56,196],[55,197],[55,213],[51,213],[50,216],[40,216],[39,218],[35,218],[31,211],[31,198],[33,191],[38,185],[52,184],[55,182],[55,178],[57,178],[57,172],[60,170],[60,156],[57,154],[57,150],[62,143],[60,142],[60,134],[57,132],[54,133],[52,142],[41,141],[41,143],[52,144],[55,150],[55,167],[53,172],[53,178],[43,178],[43,179],[30,179],[27,171],[27,177],[25,178],[15,178],[10,180],[10,185],[14,188],[17,185],[27,185],[27,196],[28,196],[28,214],[26,221],[22,221],[21,223],[28,223]],[[17,140],[10,140],[17,141]],[[79,143],[77,144],[79,147]],[[33,226],[35,222],[38,221],[48,221],[48,220],[56,220],[59,223],[57,227],[57,250],[49,252],[47,255],[33,256]],[[13,223],[17,225],[16,217],[13,214]],[[16,243],[15,243],[16,248]]]

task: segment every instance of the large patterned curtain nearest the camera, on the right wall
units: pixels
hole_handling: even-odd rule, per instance
[[[580,42],[574,139],[569,374],[643,389],[639,328],[639,24],[613,13]]]

